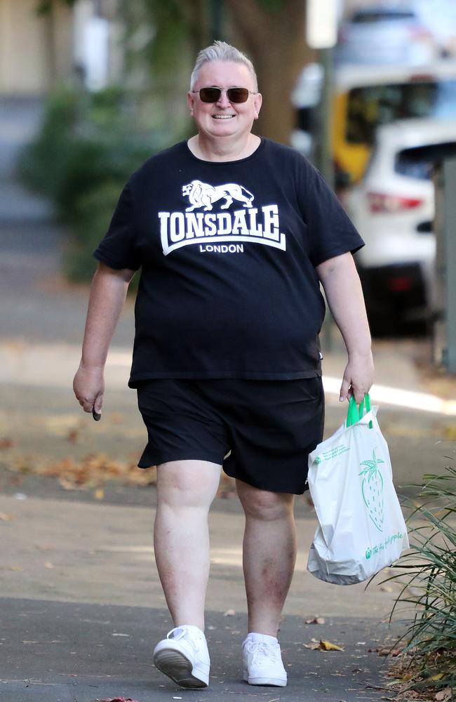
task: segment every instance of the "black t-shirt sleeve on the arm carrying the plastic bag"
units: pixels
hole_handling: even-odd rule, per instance
[[[335,193],[316,168],[310,166],[304,194],[304,220],[309,237],[309,256],[314,266],[364,246]]]

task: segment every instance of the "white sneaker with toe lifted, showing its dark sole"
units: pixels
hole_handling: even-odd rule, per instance
[[[206,637],[197,626],[172,629],[156,644],[154,664],[180,687],[208,687],[210,658]]]

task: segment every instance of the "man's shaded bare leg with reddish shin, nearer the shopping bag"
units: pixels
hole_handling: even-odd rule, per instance
[[[296,561],[294,496],[236,481],[246,513],[243,569],[248,631],[277,635]]]

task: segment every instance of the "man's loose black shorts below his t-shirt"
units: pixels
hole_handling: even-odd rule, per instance
[[[319,377],[147,380],[138,406],[149,435],[140,468],[196,459],[262,490],[307,489],[309,453],[323,437]]]

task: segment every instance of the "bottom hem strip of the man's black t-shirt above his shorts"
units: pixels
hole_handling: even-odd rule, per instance
[[[138,388],[143,380],[173,378],[176,380],[204,380],[204,378],[237,378],[239,380],[300,380],[301,378],[318,378],[321,370],[290,371],[285,373],[266,373],[265,371],[161,371],[155,373],[138,373],[130,376],[129,388]]]

